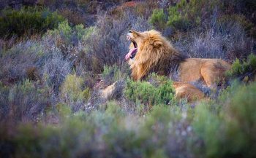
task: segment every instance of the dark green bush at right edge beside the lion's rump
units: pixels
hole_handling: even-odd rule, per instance
[[[232,64],[232,67],[227,71],[227,76],[241,79],[254,79],[256,74],[256,55],[251,54],[247,60],[240,62],[238,59]]]

